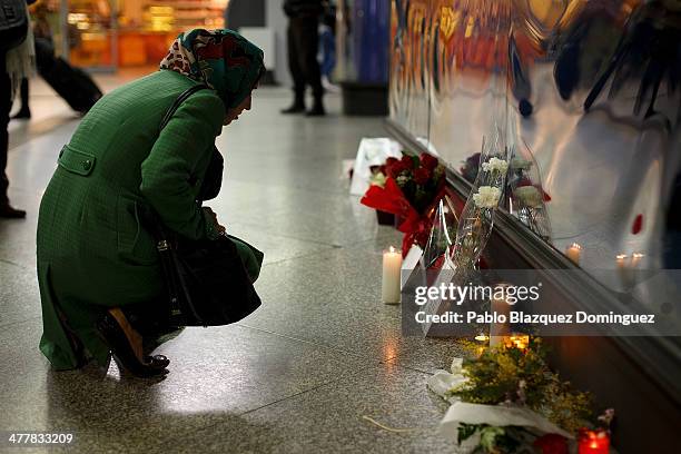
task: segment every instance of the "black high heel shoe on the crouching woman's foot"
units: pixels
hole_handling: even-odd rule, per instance
[[[111,349],[118,367],[137,377],[155,377],[168,373],[170,361],[162,355],[147,356],[142,359],[141,338],[139,337],[120,309],[111,309],[97,323],[97,329]],[[135,346],[138,345],[138,348]]]

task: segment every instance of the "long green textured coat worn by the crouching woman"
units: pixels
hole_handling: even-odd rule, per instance
[[[108,307],[150,303],[162,294],[155,241],[140,225],[144,209],[154,208],[188,238],[217,236],[196,198],[223,129],[224,102],[213,90],[200,90],[158,131],[168,108],[196,83],[161,70],[111,91],[59,155],[40,204],[37,238],[40,349],[58,369],[82,359],[62,324],[106,364],[108,347],[96,320]],[[259,260],[235,243],[257,275]]]

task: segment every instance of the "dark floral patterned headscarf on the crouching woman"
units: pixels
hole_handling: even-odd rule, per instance
[[[250,93],[265,63],[263,51],[235,31],[194,29],[177,37],[160,69],[207,85],[234,108]]]

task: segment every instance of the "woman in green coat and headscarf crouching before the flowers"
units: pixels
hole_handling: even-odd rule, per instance
[[[111,91],[82,119],[59,154],[38,221],[40,349],[55,368],[91,358],[106,366],[114,353],[136,375],[167,372],[165,357],[142,356],[125,315],[127,307],[151,307],[166,292],[141,214],[151,209],[189,239],[225,233],[197,198],[216,136],[250,109],[263,71],[263,51],[241,36],[191,30],[172,43],[158,72]],[[182,102],[159,132],[170,106],[196,85],[206,89]],[[235,243],[255,280],[261,255]],[[116,325],[117,339],[102,333],[102,317]]]

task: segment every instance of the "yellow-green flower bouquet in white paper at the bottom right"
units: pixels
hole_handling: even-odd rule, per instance
[[[596,424],[604,427],[593,430],[592,396],[549,367],[540,338],[482,353],[480,344],[467,348],[470,359],[455,358],[451,372],[438,371],[427,382],[452,404],[440,425],[446,437],[493,454],[568,454],[582,438],[609,440],[614,412],[605,411]]]

